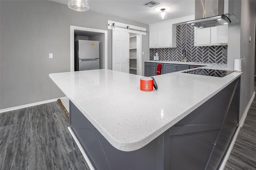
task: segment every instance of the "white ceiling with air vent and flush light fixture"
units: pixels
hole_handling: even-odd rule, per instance
[[[51,0],[62,4],[68,4],[68,0]],[[89,10],[111,16],[137,21],[140,23],[157,23],[195,14],[194,0],[154,0],[160,4],[152,8],[143,4],[149,0],[88,0]],[[172,9],[167,12],[167,19],[158,19],[158,12],[154,9],[159,6],[169,6]]]

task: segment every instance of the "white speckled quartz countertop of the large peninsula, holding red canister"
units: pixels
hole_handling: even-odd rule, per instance
[[[208,68],[224,69],[226,64]],[[220,92],[241,73],[220,77],[174,72],[154,76],[158,90],[140,90],[142,76],[107,69],[49,74],[116,149],[137,150]]]

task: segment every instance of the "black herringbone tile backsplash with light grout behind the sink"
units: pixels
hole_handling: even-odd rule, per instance
[[[189,62],[227,63],[228,46],[194,47],[194,27],[189,24],[177,25],[176,48],[150,49],[150,60],[158,53],[162,61],[182,61],[182,50],[186,50]]]

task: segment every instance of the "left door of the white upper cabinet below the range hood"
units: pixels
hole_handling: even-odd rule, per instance
[[[195,46],[210,45],[211,28],[194,28]]]

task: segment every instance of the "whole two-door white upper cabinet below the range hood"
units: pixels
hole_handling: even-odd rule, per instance
[[[195,46],[214,46],[228,44],[228,25],[216,27],[194,27]]]

